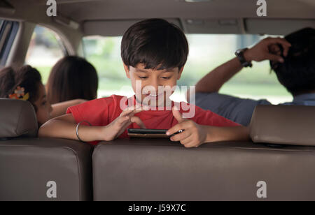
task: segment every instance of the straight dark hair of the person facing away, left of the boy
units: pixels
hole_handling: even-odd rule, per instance
[[[97,98],[99,78],[94,66],[85,59],[68,56],[52,68],[47,82],[47,96],[51,104],[73,99]]]

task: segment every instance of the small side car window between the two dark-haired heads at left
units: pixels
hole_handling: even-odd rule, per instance
[[[52,30],[36,26],[31,36],[25,64],[38,69],[45,84],[52,66],[64,57],[64,47],[59,36]]]

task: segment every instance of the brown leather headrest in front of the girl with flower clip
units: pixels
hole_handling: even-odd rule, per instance
[[[38,124],[28,101],[0,98],[0,139],[36,137]]]

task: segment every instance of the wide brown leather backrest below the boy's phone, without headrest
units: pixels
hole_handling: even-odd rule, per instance
[[[314,163],[315,147],[116,140],[94,149],[94,200],[315,200]]]

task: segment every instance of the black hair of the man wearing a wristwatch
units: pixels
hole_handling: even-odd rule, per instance
[[[315,29],[307,28],[285,37],[292,47],[284,63],[270,62],[279,82],[297,96],[315,90]]]

